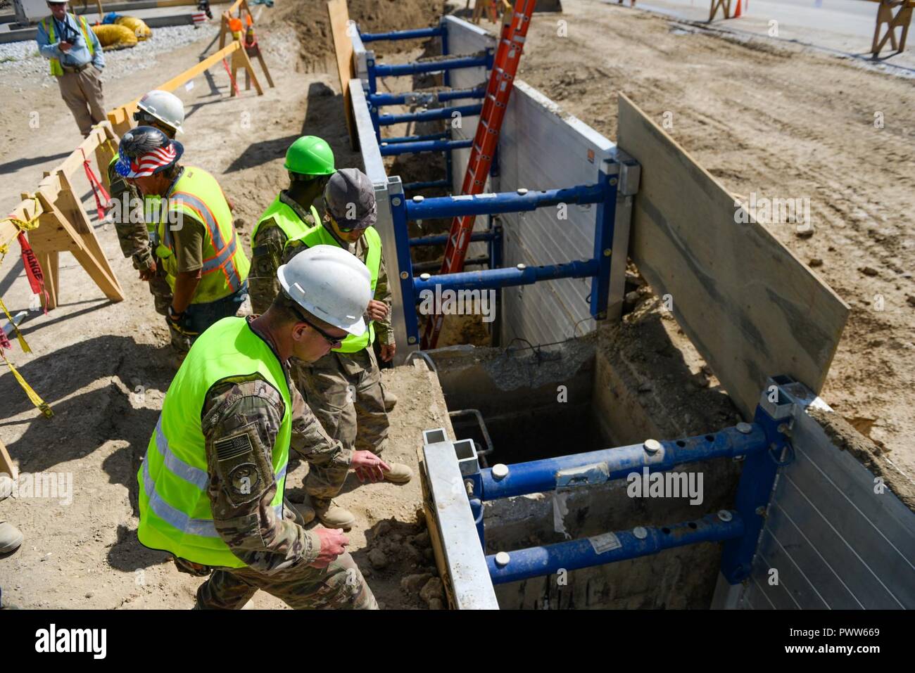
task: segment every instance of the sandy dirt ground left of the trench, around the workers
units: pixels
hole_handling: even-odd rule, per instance
[[[318,3],[311,4],[317,12]],[[414,12],[421,15],[419,9]],[[228,76],[216,67],[194,80],[193,88],[176,91],[188,110],[181,138],[186,163],[218,177],[234,201],[235,224],[249,251],[254,221],[285,187],[282,157],[298,135],[321,135],[332,145],[339,166],[359,165],[341,116],[336,70],[328,72],[301,58],[293,59],[293,68],[283,67],[290,54],[307,54],[301,44],[315,38],[310,28],[271,20],[269,10],[260,25],[258,37],[274,89],[266,89],[263,97],[242,91],[231,99]],[[215,30],[201,31],[196,43],[163,51],[149,68],[106,80],[109,106],[187,69],[204,48],[211,48],[213,37]],[[4,73],[0,87],[16,91],[0,117],[0,208],[9,210],[19,192],[34,189],[41,171],[56,166],[80,136],[50,78],[23,81],[15,72]],[[42,120],[39,129],[28,126],[32,111]],[[76,183],[94,219],[88,182],[79,175]],[[0,374],[0,439],[20,472],[64,475],[58,497],[10,497],[0,503],[0,520],[14,523],[26,538],[19,550],[0,558],[0,587],[5,603],[25,608],[189,608],[200,580],[177,572],[166,554],[146,550],[135,536],[135,472],[173,372],[167,330],[145,283],[124,260],[113,227],[95,223],[95,231],[125,301],[105,300],[64,253],[59,307],[48,315],[30,313],[22,331],[33,353],[16,347],[10,356],[54,409],[54,418],[38,414],[5,368]],[[13,314],[26,310],[30,299],[16,252],[14,245],[0,267],[0,294]],[[391,418],[390,457],[415,469],[422,431],[448,423],[444,400],[420,369],[387,370],[384,380],[400,398]],[[306,471],[304,463],[298,465],[288,482],[294,501],[302,495],[294,486]],[[436,571],[422,518],[416,516],[418,481],[359,486],[350,477],[339,502],[358,518],[350,550],[381,604],[425,607],[419,593]],[[253,605],[283,606],[264,593],[255,596]]]

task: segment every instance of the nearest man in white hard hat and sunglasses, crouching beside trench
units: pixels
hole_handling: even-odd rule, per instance
[[[289,358],[316,360],[366,331],[369,271],[316,246],[278,276],[264,315],[223,318],[178,369],[137,475],[137,537],[184,572],[212,573],[199,608],[238,609],[258,589],[293,608],[377,608],[342,531],[302,528],[284,500],[290,446],[313,464],[343,454],[296,392]],[[373,481],[387,467],[369,452],[350,466]]]

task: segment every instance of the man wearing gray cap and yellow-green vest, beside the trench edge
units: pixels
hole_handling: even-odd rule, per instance
[[[362,451],[378,455],[388,442],[388,414],[372,342],[377,334],[385,361],[393,358],[396,345],[382,239],[372,226],[376,209],[371,180],[358,168],[337,171],[324,188],[324,205],[323,220],[286,243],[284,262],[316,245],[335,245],[356,255],[371,273],[372,300],[366,311],[369,329],[361,336],[346,337],[323,358],[299,364],[294,369],[296,386],[327,433],[343,444],[347,455]],[[405,484],[413,477],[407,465],[387,461],[384,467],[385,481],[393,484]],[[305,490],[325,526],[349,529],[356,521],[331,499],[342,488],[349,468],[349,461],[318,469],[309,465]],[[361,481],[366,480],[359,467],[356,475]]]

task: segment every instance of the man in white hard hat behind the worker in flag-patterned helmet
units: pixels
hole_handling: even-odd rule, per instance
[[[184,103],[174,93],[154,89],[145,93],[137,103],[134,120],[140,126],[152,126],[172,140],[184,129]],[[124,257],[130,257],[140,278],[149,283],[149,292],[156,304],[156,313],[168,315],[172,303],[171,285],[163,264],[156,262],[156,225],[159,222],[160,198],[141,196],[136,187],[124,180],[115,170],[118,155],[108,165],[108,184],[111,186],[111,208],[108,217],[113,221],[118,242]],[[169,280],[171,283],[169,283]],[[178,335],[173,340],[183,339]]]

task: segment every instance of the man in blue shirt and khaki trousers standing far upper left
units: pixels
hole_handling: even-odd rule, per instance
[[[60,97],[70,108],[82,137],[105,120],[102,45],[84,16],[67,13],[67,3],[48,2],[51,16],[38,22],[38,52],[50,61]]]

